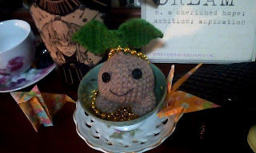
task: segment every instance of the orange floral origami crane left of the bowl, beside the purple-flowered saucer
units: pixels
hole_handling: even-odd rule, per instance
[[[30,92],[10,92],[22,112],[30,120],[35,131],[43,124],[45,127],[53,126],[53,116],[66,102],[75,103],[65,94],[41,93],[38,86]]]

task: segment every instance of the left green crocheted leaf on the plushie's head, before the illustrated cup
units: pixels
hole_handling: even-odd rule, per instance
[[[113,34],[102,22],[93,20],[74,33],[73,40],[90,52],[98,54],[110,48],[112,36]]]

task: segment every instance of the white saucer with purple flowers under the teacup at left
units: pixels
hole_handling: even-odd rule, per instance
[[[45,69],[30,68],[25,73],[17,74],[12,77],[0,74],[0,92],[14,92],[26,88],[46,77],[55,66],[56,65],[53,64]]]

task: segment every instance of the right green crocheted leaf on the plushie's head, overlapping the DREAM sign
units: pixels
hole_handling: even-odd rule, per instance
[[[122,33],[122,47],[140,48],[155,38],[163,37],[160,30],[140,18],[123,23],[118,31]]]

